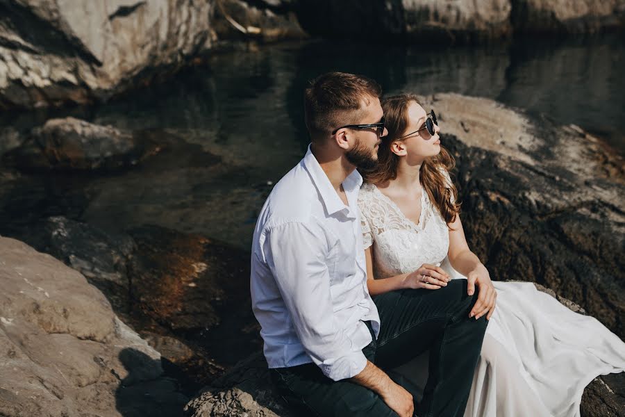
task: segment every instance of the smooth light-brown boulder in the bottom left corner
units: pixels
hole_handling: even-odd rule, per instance
[[[0,414],[180,414],[160,354],[85,277],[18,240],[0,238],[0,254]]]

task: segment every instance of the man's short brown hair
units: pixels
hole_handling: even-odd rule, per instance
[[[304,92],[304,115],[310,138],[331,135],[345,124],[358,124],[363,101],[380,98],[376,81],[346,72],[327,72],[310,81]]]

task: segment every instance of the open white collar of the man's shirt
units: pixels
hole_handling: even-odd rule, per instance
[[[321,165],[319,165],[317,158],[315,158],[313,152],[310,151],[310,145],[308,145],[308,152],[306,152],[306,156],[303,157],[302,161],[308,171],[308,174],[310,174],[310,178],[313,179],[313,183],[315,184],[315,187],[317,187],[317,191],[319,191],[319,195],[322,198],[324,206],[326,206],[328,215],[332,215],[338,211],[348,208],[336,193],[330,179],[324,170],[322,170]],[[357,170],[353,170],[353,172],[342,182],[343,189],[348,195],[351,195],[354,191],[358,191],[362,183],[363,177],[360,176],[360,173]],[[348,201],[352,201],[349,196]]]

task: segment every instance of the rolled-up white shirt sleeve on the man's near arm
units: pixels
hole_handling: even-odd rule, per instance
[[[335,381],[358,375],[367,358],[336,320],[323,231],[297,221],[272,227],[265,233],[263,256],[313,362]]]

